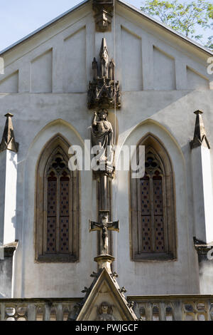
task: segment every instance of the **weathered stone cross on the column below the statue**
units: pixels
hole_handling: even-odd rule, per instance
[[[108,244],[108,230],[114,230],[119,232],[119,221],[109,222],[109,210],[99,210],[99,221],[94,222],[89,220],[89,232],[94,232],[95,230],[102,231],[102,239],[100,241],[100,249],[102,254],[109,253]]]

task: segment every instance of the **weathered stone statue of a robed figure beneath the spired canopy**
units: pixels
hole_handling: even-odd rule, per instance
[[[98,145],[102,148],[100,163],[113,164],[114,160],[114,131],[111,123],[107,120],[108,111],[101,109],[95,111],[92,118],[92,147]]]

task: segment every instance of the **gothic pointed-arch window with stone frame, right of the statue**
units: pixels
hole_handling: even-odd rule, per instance
[[[133,260],[175,258],[173,169],[168,153],[153,135],[145,145],[145,175],[131,179]]]

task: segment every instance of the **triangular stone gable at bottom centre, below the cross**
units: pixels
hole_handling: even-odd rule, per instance
[[[97,279],[94,279],[76,321],[136,320],[136,315],[119,290],[116,279],[104,268]]]

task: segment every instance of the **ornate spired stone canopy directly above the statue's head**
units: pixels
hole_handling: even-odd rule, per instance
[[[92,62],[93,81],[89,81],[88,108],[121,108],[119,81],[114,81],[114,60],[109,61],[106,38],[102,39],[99,64]]]

